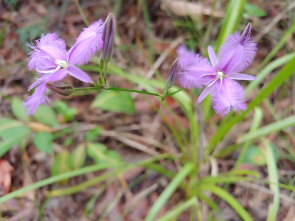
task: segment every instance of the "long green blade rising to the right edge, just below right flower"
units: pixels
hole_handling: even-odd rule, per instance
[[[295,72],[295,56],[277,73],[273,79],[257,94],[257,96],[249,103],[246,111],[237,114],[229,119],[226,123],[219,126],[207,146],[208,154],[215,148],[216,144],[224,138],[231,128],[240,122],[247,113],[257,107],[267,96],[269,96],[277,87],[284,83]]]

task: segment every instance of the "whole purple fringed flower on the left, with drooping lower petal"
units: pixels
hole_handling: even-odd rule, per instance
[[[35,92],[24,102],[28,113],[32,115],[40,104],[45,104],[46,83],[57,82],[67,74],[86,83],[91,83],[90,77],[75,65],[87,63],[92,55],[103,47],[103,22],[99,20],[88,28],[84,28],[73,47],[66,52],[64,40],[56,33],[42,34],[37,45],[28,45],[32,51],[29,53],[29,70],[36,69],[39,78],[29,86],[29,90],[37,86]]]

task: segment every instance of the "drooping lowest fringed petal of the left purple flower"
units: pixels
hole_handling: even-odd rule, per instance
[[[44,95],[45,90],[46,83],[39,84],[34,93],[24,101],[23,105],[27,109],[29,115],[33,115],[41,104],[46,104],[49,100],[48,97]]]

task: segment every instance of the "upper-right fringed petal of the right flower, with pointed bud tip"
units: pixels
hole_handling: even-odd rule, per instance
[[[233,51],[239,51],[238,57],[235,58],[236,64],[235,62],[232,63],[235,64],[234,70],[233,68],[230,68],[230,70],[233,70],[236,73],[245,70],[250,65],[256,54],[257,44],[254,42],[254,39],[250,36],[250,34],[251,24],[248,24],[242,36],[240,35],[240,32],[236,31],[227,38],[219,49],[218,56],[220,58],[230,57],[231,55],[228,55],[229,53],[233,54]],[[221,64],[221,62],[224,61],[220,61],[219,63]]]

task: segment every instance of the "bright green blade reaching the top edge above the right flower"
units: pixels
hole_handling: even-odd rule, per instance
[[[215,50],[225,42],[226,38],[236,31],[237,25],[240,22],[242,17],[243,9],[245,6],[246,0],[231,0],[226,8],[225,17],[219,32]]]

